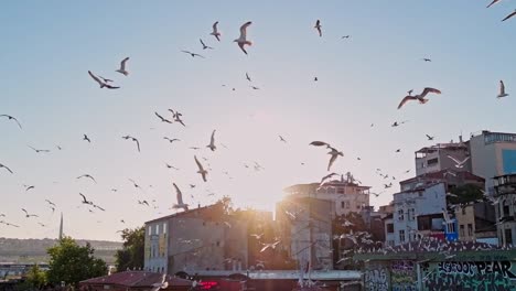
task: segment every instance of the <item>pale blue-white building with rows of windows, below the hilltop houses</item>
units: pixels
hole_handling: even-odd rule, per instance
[[[442,234],[454,233],[453,226],[444,225],[445,229],[442,229],[442,223],[447,220],[443,217],[443,213],[447,212],[445,196],[445,184],[442,182],[427,183],[394,194],[394,245],[417,240],[418,234],[430,235],[432,230],[437,230],[437,224]],[[437,220],[439,218],[440,220]],[[451,218],[448,220],[453,222]],[[386,219],[384,223],[388,222]],[[391,240],[393,235],[388,233],[389,226],[386,225],[385,228],[386,239]]]

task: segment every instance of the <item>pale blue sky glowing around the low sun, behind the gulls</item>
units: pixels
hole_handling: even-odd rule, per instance
[[[0,236],[56,237],[62,212],[66,235],[120,240],[117,230],[175,212],[172,183],[194,207],[228,195],[236,207],[273,211],[284,187],[329,173],[330,155],[310,147],[313,140],[343,151],[331,172],[352,172],[372,192],[386,182],[377,168],[396,176],[394,187],[370,196],[372,205],[388,204],[397,182],[415,174],[420,148],[484,129],[516,131],[509,65],[516,19],[501,22],[514,3],[486,9],[488,2],[4,3],[0,115],[14,116],[23,129],[0,118],[0,163],[14,172],[0,169],[0,219],[20,226],[0,224]],[[322,37],[313,28],[318,19]],[[209,35],[215,21],[221,42]],[[248,55],[233,42],[246,21],[252,21]],[[200,39],[214,50],[202,50]],[[115,71],[127,56],[123,76]],[[100,89],[88,71],[121,88]],[[501,79],[509,96],[496,99]],[[424,87],[442,94],[397,109],[407,90]],[[186,127],[154,116],[172,118],[169,108],[183,114]],[[213,130],[214,152],[206,148]],[[126,134],[139,139],[141,152]],[[206,183],[194,155],[211,169]],[[264,169],[255,171],[255,162]],[[77,179],[83,174],[97,183]],[[79,193],[106,212],[90,213]],[[45,200],[57,205],[55,213]],[[21,208],[39,217],[26,218]]]

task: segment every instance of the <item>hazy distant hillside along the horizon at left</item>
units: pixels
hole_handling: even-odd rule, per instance
[[[108,265],[115,263],[117,249],[122,242],[107,240],[76,239],[77,244],[85,246],[89,242],[95,249],[95,257],[104,259]],[[0,262],[47,262],[46,249],[57,244],[57,239],[18,239],[0,237]]]

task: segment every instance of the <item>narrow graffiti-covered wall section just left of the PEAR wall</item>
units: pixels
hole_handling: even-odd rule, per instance
[[[390,284],[393,291],[416,291],[416,265],[411,260],[394,260],[390,262]]]

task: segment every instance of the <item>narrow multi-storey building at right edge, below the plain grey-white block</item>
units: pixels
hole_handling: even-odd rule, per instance
[[[516,241],[516,174],[494,177],[494,204],[498,240],[502,246]]]

